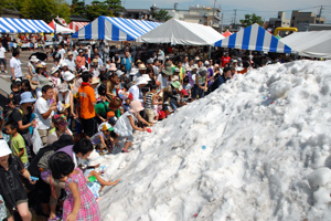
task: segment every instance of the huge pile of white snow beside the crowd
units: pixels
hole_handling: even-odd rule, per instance
[[[249,71],[108,156],[103,220],[330,220],[331,62]]]

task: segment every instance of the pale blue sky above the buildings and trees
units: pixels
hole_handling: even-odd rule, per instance
[[[66,1],[71,3],[71,0]],[[92,1],[85,0],[86,3],[90,3]],[[152,4],[157,4],[158,8],[173,8],[175,2],[179,3],[179,9],[189,9],[189,6],[196,4],[214,6],[214,0],[121,0],[121,2],[127,9],[149,9]],[[236,21],[239,22],[246,13],[256,13],[266,21],[269,18],[276,18],[278,11],[286,11],[287,19],[290,19],[292,10],[309,11],[318,14],[321,6],[323,6],[322,17],[327,19],[327,23],[331,23],[330,0],[216,0],[215,6],[222,8],[224,24],[232,22],[235,9],[237,9]]]

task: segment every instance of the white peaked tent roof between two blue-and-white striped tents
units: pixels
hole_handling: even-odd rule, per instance
[[[213,45],[220,39],[224,39],[224,36],[211,27],[171,19],[143,34],[137,41],[184,45]]]

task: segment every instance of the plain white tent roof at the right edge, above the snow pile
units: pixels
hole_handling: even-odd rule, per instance
[[[331,31],[295,32],[280,41],[301,56],[331,59]]]

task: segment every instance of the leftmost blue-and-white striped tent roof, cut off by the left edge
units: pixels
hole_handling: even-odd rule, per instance
[[[0,33],[53,33],[42,20],[0,18]]]

